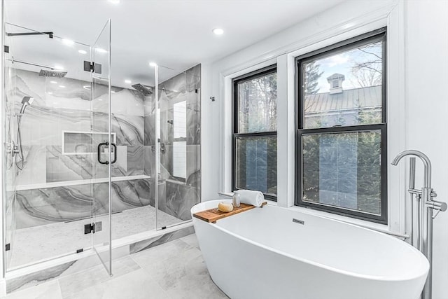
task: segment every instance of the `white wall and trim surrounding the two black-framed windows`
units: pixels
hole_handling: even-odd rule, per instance
[[[408,148],[426,153],[433,162],[437,200],[448,201],[447,15],[448,1],[346,1],[204,67],[202,200],[216,198],[218,191],[231,191],[231,78],[277,62],[279,205],[289,207],[294,179],[293,56],[387,25],[388,159]],[[210,101],[211,96],[216,102]],[[398,233],[406,232],[407,178],[405,163],[401,164],[388,169],[391,216],[387,229]],[[434,222],[433,276],[433,299],[448,298],[443,289],[448,284],[448,212]]]

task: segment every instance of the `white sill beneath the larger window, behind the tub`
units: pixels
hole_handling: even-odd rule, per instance
[[[276,205],[276,202],[275,202],[275,205]],[[314,216],[330,218],[332,220],[342,221],[342,222],[350,223],[353,225],[358,225],[360,227],[368,228],[370,230],[376,230],[378,232],[384,232],[387,235],[392,235],[392,236],[398,237],[399,239],[402,239],[402,240],[409,238],[409,235],[404,235],[400,232],[393,232],[392,230],[390,230],[388,228],[388,225],[384,225],[384,224],[380,224],[380,223],[364,221],[364,220],[360,220],[360,219],[356,219],[356,218],[332,214],[332,213],[328,213],[325,211],[318,211],[315,209],[308,209],[308,208],[304,208],[304,207],[293,206],[293,207],[289,207],[288,209],[293,210],[293,211],[300,211],[302,213],[310,214],[310,215],[314,215]]]

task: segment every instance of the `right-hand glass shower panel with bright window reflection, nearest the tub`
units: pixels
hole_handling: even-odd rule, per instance
[[[201,66],[175,76],[157,70],[157,228],[164,229],[190,221],[200,202]]]

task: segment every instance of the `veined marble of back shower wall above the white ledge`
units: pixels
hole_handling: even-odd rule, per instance
[[[106,177],[106,167],[98,165],[96,148],[92,153],[62,153],[62,132],[107,132],[108,114],[103,112],[106,101],[93,101],[87,82],[58,78],[57,89],[50,78],[31,71],[15,69],[15,85],[7,90],[9,98],[20,103],[22,96],[31,95],[34,102],[22,117],[22,144],[25,169],[18,173],[17,185],[73,181]],[[20,92],[18,92],[20,90]],[[112,176],[144,173],[144,99],[137,90],[114,88],[111,97],[111,131],[116,135],[118,160],[112,165]],[[107,90],[98,88],[97,98]],[[19,104],[16,104],[16,109]],[[92,125],[94,123],[94,125]],[[36,125],[38,124],[38,125]],[[85,146],[92,147],[92,144]],[[94,145],[93,145],[94,146]],[[136,160],[142,162],[137,163]],[[37,180],[36,180],[37,179]]]

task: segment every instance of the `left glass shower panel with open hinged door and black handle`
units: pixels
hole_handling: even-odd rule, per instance
[[[110,26],[92,46],[4,27],[7,271],[92,249],[111,274]]]

